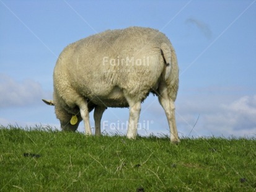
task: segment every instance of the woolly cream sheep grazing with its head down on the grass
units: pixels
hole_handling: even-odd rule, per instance
[[[56,117],[64,131],[76,131],[84,121],[95,135],[107,107],[129,107],[127,137],[136,139],[141,102],[149,93],[158,96],[166,112],[170,141],[180,142],[175,122],[179,67],[174,48],[163,33],[152,28],[107,30],[71,43],[61,52],[53,72]]]

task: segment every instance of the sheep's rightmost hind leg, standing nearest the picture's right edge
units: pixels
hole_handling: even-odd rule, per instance
[[[174,101],[168,97],[166,88],[162,89],[158,98],[159,98],[159,102],[162,105],[162,108],[164,108],[164,111],[166,112],[166,117],[167,117],[169,128],[170,128],[170,141],[177,144],[180,142],[180,140],[179,140],[176,121],[175,121]]]

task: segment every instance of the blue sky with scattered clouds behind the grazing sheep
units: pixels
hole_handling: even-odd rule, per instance
[[[52,97],[61,50],[94,33],[130,26],[157,28],[175,48],[180,136],[255,136],[255,0],[0,0],[0,124],[60,128],[54,108],[41,99]],[[126,133],[126,121],[127,108],[108,108],[102,118],[107,133]],[[143,103],[140,123],[139,134],[169,133],[157,97]]]

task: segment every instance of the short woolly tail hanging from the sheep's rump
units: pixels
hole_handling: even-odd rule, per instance
[[[170,46],[168,46],[166,43],[162,43],[161,45],[161,54],[164,58],[164,80],[167,81],[170,77],[170,72],[172,68],[172,50],[170,49]]]

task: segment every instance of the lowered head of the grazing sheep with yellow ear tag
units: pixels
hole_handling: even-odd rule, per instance
[[[55,113],[58,120],[61,123],[61,129],[64,131],[76,131],[78,128],[79,123],[82,121],[80,113],[77,115],[72,115],[68,113],[68,111],[64,110],[58,105],[55,105],[53,100],[45,100],[43,99],[47,105],[55,106]]]

